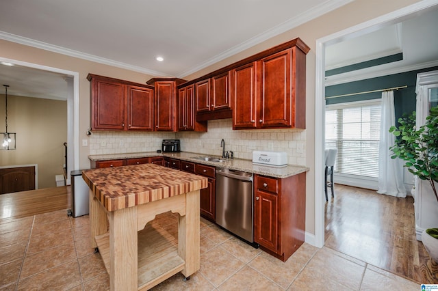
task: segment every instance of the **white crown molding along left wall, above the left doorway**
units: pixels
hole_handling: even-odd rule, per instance
[[[114,61],[112,59],[105,59],[104,57],[98,57],[96,55],[90,55],[88,53],[82,53],[80,51],[75,51],[70,48],[64,48],[62,46],[55,46],[53,44],[48,44],[47,42],[40,42],[38,40],[32,40],[30,38],[24,38],[23,36],[16,36],[12,33],[7,33],[5,31],[0,31],[0,39],[8,40],[10,42],[16,42],[18,44],[24,44],[26,46],[32,46],[34,48],[40,48],[45,51],[51,51],[53,53],[60,53],[62,55],[68,55],[69,57],[77,57],[78,59],[85,59],[87,61],[94,61],[95,63],[104,64],[108,66],[114,66],[117,68],[122,68],[126,70],[131,70],[134,72],[141,72],[144,74],[150,74],[157,77],[173,77],[169,74],[164,74],[163,72],[157,72],[155,70],[148,70],[139,66],[133,66],[129,64],[122,63],[120,61]]]

